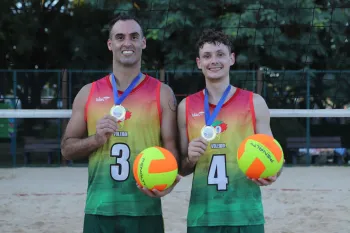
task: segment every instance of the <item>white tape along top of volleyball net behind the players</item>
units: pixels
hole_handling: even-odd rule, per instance
[[[271,117],[350,117],[346,109],[270,109]],[[70,118],[72,110],[0,110],[0,118]]]

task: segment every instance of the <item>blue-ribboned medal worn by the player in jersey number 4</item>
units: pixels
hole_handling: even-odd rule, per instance
[[[204,95],[204,114],[205,114],[205,126],[201,130],[201,136],[207,140],[207,141],[212,141],[216,138],[216,130],[212,126],[215,118],[220,112],[220,109],[222,105],[224,104],[226,97],[228,93],[230,93],[231,90],[231,85],[229,85],[223,95],[221,96],[218,104],[216,105],[212,115],[210,115],[210,109],[209,109],[209,100],[208,100],[208,90],[205,89],[205,95]]]

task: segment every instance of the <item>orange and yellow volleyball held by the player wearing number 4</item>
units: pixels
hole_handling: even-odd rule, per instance
[[[237,163],[249,178],[274,176],[283,166],[281,145],[272,136],[254,134],[247,137],[237,150]]]

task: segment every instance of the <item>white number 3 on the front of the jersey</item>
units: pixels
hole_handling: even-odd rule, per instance
[[[124,143],[116,143],[111,148],[111,156],[116,163],[111,165],[111,176],[115,181],[124,181],[130,173],[130,148]]]

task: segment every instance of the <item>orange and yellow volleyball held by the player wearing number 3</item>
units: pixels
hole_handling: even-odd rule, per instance
[[[162,147],[149,147],[135,158],[135,180],[141,187],[163,191],[176,180],[178,165],[174,155]]]

